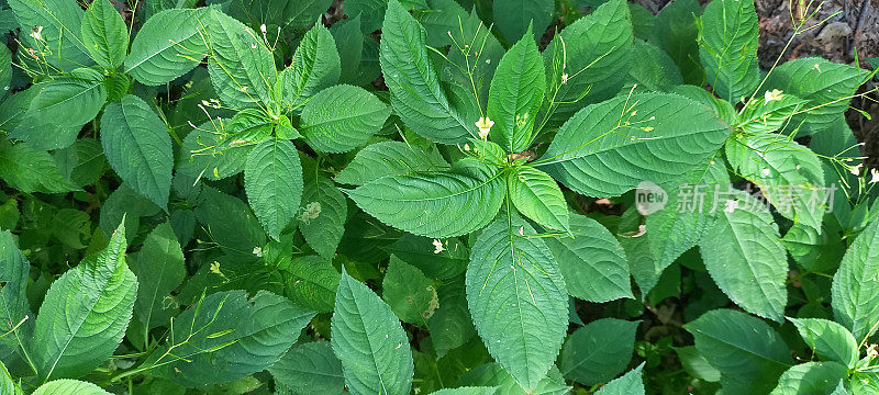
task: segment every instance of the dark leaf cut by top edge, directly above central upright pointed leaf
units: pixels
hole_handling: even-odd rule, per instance
[[[549,26],[555,5],[553,0],[494,0],[492,10],[496,27],[508,43],[525,38],[523,36],[528,32],[533,36],[527,37],[528,41],[534,42]]]

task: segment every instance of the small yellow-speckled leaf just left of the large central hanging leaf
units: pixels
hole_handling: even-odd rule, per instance
[[[431,280],[415,267],[393,256],[381,289],[382,298],[403,323],[426,326],[439,303]]]

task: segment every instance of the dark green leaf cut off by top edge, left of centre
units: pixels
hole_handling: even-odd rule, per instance
[[[305,29],[326,12],[332,3],[332,0],[236,0],[230,2],[229,13],[252,25],[274,24],[283,29]]]

